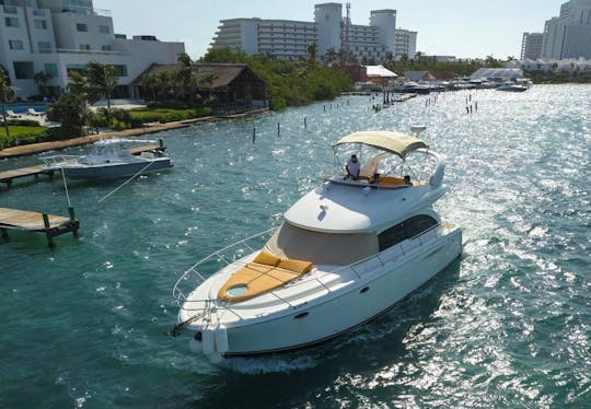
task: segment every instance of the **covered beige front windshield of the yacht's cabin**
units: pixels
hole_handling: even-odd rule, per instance
[[[320,233],[283,223],[265,245],[265,250],[281,258],[316,265],[347,266],[378,254],[373,233]]]

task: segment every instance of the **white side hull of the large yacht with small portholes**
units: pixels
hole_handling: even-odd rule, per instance
[[[408,250],[393,262],[387,262],[389,252],[383,252],[380,257],[386,261],[381,267],[375,268],[376,258],[359,265],[360,278],[344,289],[293,305],[287,312],[234,326],[229,323],[200,329],[201,340],[192,339],[190,349],[229,358],[301,349],[326,341],[387,312],[450,265],[461,252],[459,229],[415,252]]]

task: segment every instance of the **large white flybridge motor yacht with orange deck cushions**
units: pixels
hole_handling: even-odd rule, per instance
[[[190,331],[189,348],[212,361],[309,347],[387,312],[461,254],[461,229],[432,208],[447,188],[427,143],[364,131],[334,151],[336,176],[297,201],[279,229],[178,279],[171,336]],[[352,153],[364,163],[356,180],[341,173]]]

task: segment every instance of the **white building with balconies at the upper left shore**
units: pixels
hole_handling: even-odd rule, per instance
[[[174,63],[183,43],[159,42],[153,36],[114,34],[108,11],[92,0],[4,0],[0,4],[0,65],[20,97],[39,94],[35,74],[51,75],[51,95],[67,87],[68,71],[91,60],[112,65],[119,72],[117,96],[129,97],[128,86],[152,63]]]

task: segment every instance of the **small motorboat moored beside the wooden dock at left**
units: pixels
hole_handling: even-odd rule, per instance
[[[121,148],[123,140],[95,143],[96,153],[88,155],[44,156],[46,172],[62,171],[71,179],[112,179],[158,172],[173,166],[172,159],[160,151],[131,154]]]

